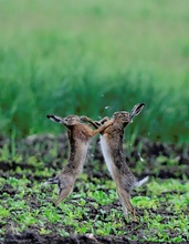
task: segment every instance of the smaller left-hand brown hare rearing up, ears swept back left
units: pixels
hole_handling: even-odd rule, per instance
[[[93,130],[90,125],[81,123],[81,119],[77,115],[69,115],[66,118],[48,115],[48,118],[56,123],[64,124],[67,128],[71,145],[67,164],[62,169],[60,174],[44,183],[59,184],[59,197],[55,201],[55,205],[59,205],[62,200],[71,194],[75,180],[83,170],[83,164],[90,146],[90,139],[102,132],[106,126],[111,125],[112,122],[108,121],[97,130]]]

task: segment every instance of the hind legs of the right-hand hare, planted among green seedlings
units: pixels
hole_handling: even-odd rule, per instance
[[[132,218],[133,221],[137,221],[136,218],[136,212],[135,212],[135,207],[132,205],[130,203],[130,195],[129,193],[127,193],[125,190],[119,190],[118,192],[118,197],[119,201],[122,203],[122,206],[124,209],[124,215],[127,216],[128,215],[128,211],[132,214]]]

